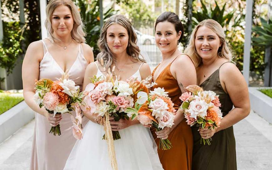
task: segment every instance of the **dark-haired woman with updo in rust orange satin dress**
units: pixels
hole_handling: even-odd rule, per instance
[[[159,158],[165,170],[190,170],[192,168],[193,136],[189,125],[184,119],[179,97],[185,92],[184,87],[196,84],[196,71],[189,56],[178,50],[178,43],[183,37],[183,26],[178,15],[164,12],[155,23],[155,40],[162,53],[161,63],[152,73],[153,88],[164,88],[177,109],[172,128],[165,127],[156,132],[153,137],[159,146],[159,138],[168,138],[172,143],[169,150],[158,149]]]

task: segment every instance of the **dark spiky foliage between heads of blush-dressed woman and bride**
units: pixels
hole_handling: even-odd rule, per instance
[[[86,43],[93,47],[94,56],[98,54],[98,38],[100,35],[100,12],[99,0],[75,0],[75,4],[79,7],[83,23],[85,24]],[[103,21],[116,14],[113,10],[112,4],[103,9]]]

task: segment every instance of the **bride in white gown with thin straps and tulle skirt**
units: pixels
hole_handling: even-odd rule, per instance
[[[119,80],[130,77],[142,80],[151,75],[149,65],[139,58],[137,36],[131,22],[123,15],[113,15],[104,24],[98,47],[101,52],[97,61],[88,65],[83,89],[90,83],[94,75],[106,74],[99,61],[108,70],[115,66]],[[106,140],[102,140],[104,132],[101,121],[96,121],[91,115],[84,113],[90,120],[83,129],[83,139],[77,141],[66,162],[65,170],[110,170]],[[157,146],[148,128],[136,119],[119,121],[111,120],[113,131],[119,131],[121,139],[114,141],[116,159],[119,170],[160,170]]]

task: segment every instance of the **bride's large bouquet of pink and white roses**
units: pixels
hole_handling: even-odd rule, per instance
[[[135,78],[130,78],[127,81],[116,79],[114,82],[113,79],[108,79],[108,81],[104,79],[108,78],[96,76],[91,78],[92,83],[88,84],[84,91],[86,96],[81,105],[82,110],[91,113],[96,120],[103,118],[105,113],[109,113],[109,116],[114,117],[115,121],[129,120],[129,118],[133,120],[136,115],[126,113],[126,109],[134,106],[138,92],[148,92],[149,85],[146,85],[148,79],[141,82]],[[112,134],[113,140],[121,138],[118,131],[112,131]],[[105,139],[105,135],[102,139]]]

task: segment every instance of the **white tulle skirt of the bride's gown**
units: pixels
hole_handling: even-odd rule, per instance
[[[77,141],[64,170],[111,170],[103,126],[89,121],[83,138]],[[141,124],[119,131],[114,141],[118,170],[161,170],[157,145],[148,128]]]

